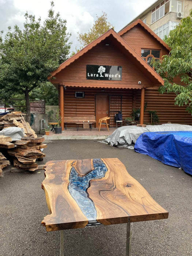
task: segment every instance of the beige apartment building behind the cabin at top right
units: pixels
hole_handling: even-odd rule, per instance
[[[192,0],[158,0],[131,20],[125,27],[135,20],[141,19],[161,39],[169,35],[169,31],[176,27],[182,18],[189,15]]]

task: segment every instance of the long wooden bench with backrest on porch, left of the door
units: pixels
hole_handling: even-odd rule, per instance
[[[78,125],[86,123],[89,125],[90,129],[92,129],[92,124],[96,123],[96,119],[95,116],[67,116],[64,117],[65,129],[67,129],[67,123]]]

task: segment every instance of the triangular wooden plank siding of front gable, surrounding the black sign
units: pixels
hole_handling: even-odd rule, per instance
[[[106,43],[109,43],[109,46],[106,46]],[[88,64],[122,66],[122,80],[88,80],[86,79],[86,65]],[[142,85],[139,85],[138,81],[142,81]],[[104,40],[56,74],[56,79],[52,80],[52,83],[63,83],[65,86],[80,86],[80,84],[83,84],[86,87],[95,87],[97,85],[97,87],[101,88],[140,89],[141,86],[152,86],[158,82],[154,80],[154,77],[149,72],[139,69],[131,54],[126,56],[124,52],[117,49],[113,41]]]

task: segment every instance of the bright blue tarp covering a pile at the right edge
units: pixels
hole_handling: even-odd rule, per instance
[[[192,174],[192,131],[145,132],[134,150]]]

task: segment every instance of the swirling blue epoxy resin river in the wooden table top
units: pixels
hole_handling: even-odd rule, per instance
[[[83,177],[78,176],[75,168],[72,167],[68,185],[69,193],[78,203],[78,206],[88,220],[96,220],[97,217],[94,203],[87,194],[89,182],[90,180],[104,177],[108,170],[105,163],[103,163],[100,158],[93,159],[93,166],[94,170]]]

